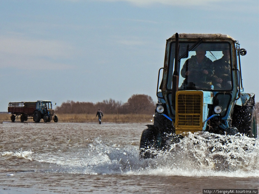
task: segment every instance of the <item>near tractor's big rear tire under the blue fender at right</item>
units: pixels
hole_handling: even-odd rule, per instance
[[[234,107],[232,126],[248,137],[257,137],[257,123],[254,97],[246,105]]]

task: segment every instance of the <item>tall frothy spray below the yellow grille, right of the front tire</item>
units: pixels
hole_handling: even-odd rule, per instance
[[[159,151],[150,164],[170,175],[258,176],[258,153],[258,139],[197,132],[188,133],[168,151]]]

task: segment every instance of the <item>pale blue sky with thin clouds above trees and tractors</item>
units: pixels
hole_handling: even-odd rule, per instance
[[[157,101],[166,40],[221,33],[247,50],[243,87],[259,101],[256,0],[1,0],[0,112],[9,102]]]

